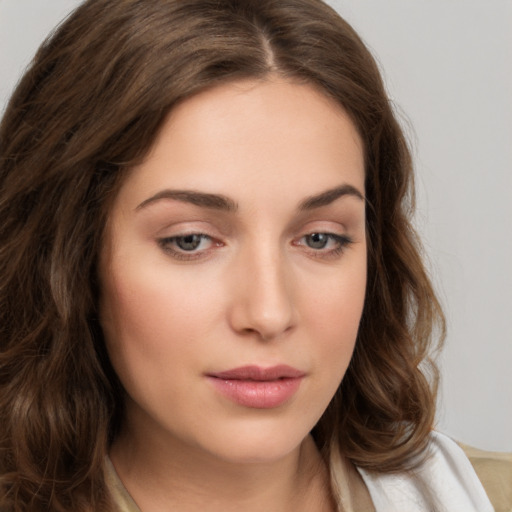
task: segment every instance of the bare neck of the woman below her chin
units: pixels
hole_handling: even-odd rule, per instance
[[[155,438],[123,433],[112,462],[142,512],[334,510],[328,472],[310,436],[285,457],[232,463]]]

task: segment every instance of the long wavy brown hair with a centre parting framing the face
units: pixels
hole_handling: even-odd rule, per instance
[[[112,508],[104,457],[123,400],[96,311],[110,204],[177,102],[271,73],[334,98],[365,147],[366,303],[315,440],[375,471],[424,452],[444,323],[410,225],[407,144],[360,38],[320,0],[89,0],[41,46],[0,126],[2,510]]]

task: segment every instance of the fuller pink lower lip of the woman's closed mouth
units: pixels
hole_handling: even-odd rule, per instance
[[[299,389],[303,377],[270,381],[208,377],[222,395],[244,407],[272,409],[286,403]]]

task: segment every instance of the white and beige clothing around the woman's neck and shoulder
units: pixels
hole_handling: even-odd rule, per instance
[[[471,462],[454,441],[433,432],[432,455],[414,474],[371,474],[359,469],[375,511],[512,512],[512,454],[463,448]],[[350,493],[344,488],[342,461],[333,457],[330,463],[339,511],[363,512],[354,511]],[[110,460],[106,464],[108,485],[119,512],[141,512]]]

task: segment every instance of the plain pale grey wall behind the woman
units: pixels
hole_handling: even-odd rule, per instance
[[[370,46],[412,142],[448,319],[438,428],[512,451],[512,1],[331,0]],[[0,109],[75,0],[0,0]]]

